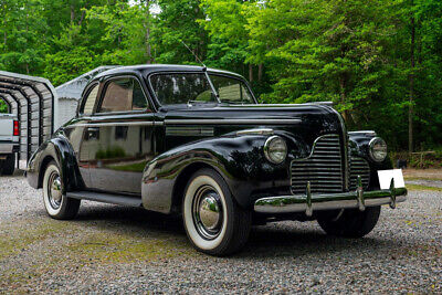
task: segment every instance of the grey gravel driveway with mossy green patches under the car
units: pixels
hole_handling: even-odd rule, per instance
[[[383,207],[365,239],[271,223],[219,259],[196,252],[179,219],[85,201],[76,220],[56,221],[23,177],[0,178],[0,293],[442,293],[441,282],[438,191]]]

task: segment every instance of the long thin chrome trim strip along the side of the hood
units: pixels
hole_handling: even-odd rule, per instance
[[[190,124],[208,124],[208,125],[234,125],[234,124],[246,124],[246,125],[286,125],[286,124],[299,124],[301,119],[165,119],[165,124],[170,125],[190,125]]]

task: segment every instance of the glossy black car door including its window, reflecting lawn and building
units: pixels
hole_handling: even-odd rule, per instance
[[[141,175],[154,157],[154,113],[135,76],[104,82],[86,134],[91,186],[107,192],[141,193]]]

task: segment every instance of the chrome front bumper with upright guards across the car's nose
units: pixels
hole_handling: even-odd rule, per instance
[[[307,182],[305,196],[278,196],[267,197],[255,201],[254,210],[259,213],[294,213],[305,212],[307,217],[316,210],[334,210],[359,208],[364,211],[366,207],[390,204],[407,200],[406,188],[394,188],[394,180],[391,179],[390,189],[364,191],[361,179],[358,177],[356,191],[312,194],[311,183]]]

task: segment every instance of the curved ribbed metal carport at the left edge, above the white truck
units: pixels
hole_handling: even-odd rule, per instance
[[[20,120],[19,159],[27,160],[57,126],[56,92],[46,78],[0,71],[0,99]]]

